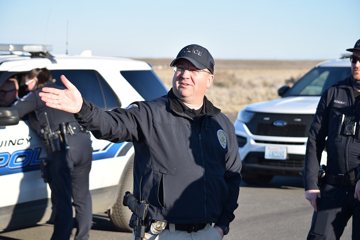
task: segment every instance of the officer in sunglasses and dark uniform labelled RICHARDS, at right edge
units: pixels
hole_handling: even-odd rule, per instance
[[[340,239],[351,216],[352,239],[360,239],[360,40],[347,51],[352,52],[351,75],[325,90],[309,131],[303,180],[315,211],[308,240]],[[327,166],[319,188],[325,146]]]

